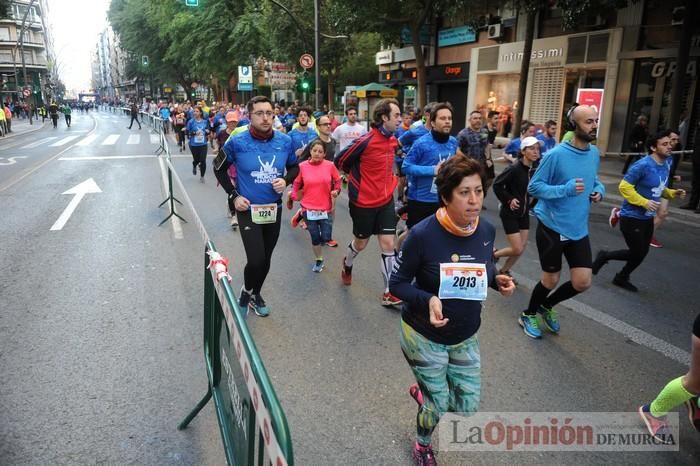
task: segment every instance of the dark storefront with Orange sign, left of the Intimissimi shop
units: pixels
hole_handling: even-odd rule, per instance
[[[426,70],[428,101],[449,102],[454,109],[452,134],[464,128],[467,113],[469,63],[431,66]]]

